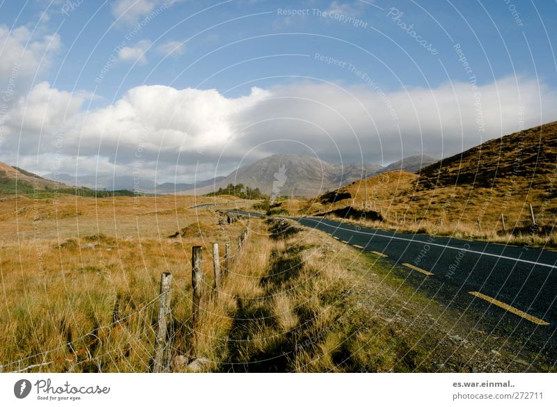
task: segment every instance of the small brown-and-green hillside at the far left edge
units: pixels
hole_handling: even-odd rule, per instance
[[[46,189],[68,188],[61,182],[53,182],[21,168],[0,162],[0,195],[10,193],[33,193]]]

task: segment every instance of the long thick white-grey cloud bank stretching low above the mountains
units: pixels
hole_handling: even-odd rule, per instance
[[[59,153],[79,157],[79,173],[141,171],[159,181],[191,182],[276,152],[384,165],[413,154],[447,157],[556,120],[557,111],[554,90],[515,77],[477,89],[453,82],[393,92],[303,82],[251,88],[243,97],[139,86],[101,109],[81,111],[83,102],[47,83],[33,88],[9,114],[13,131],[0,159],[6,151],[24,158],[54,154],[63,129]],[[29,169],[52,172],[50,161],[39,162]]]

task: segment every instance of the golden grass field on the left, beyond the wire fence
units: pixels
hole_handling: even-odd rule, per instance
[[[148,370],[160,274],[173,273],[173,312],[187,320],[191,246],[207,249],[209,269],[212,241],[235,241],[244,228],[218,227],[212,208],[187,209],[194,203],[173,196],[0,202],[0,361],[23,359],[3,369]],[[66,212],[79,215],[59,216]],[[197,223],[211,228],[168,239]]]

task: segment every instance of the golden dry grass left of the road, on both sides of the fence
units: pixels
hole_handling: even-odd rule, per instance
[[[170,354],[186,361],[175,372],[430,372],[439,353],[447,371],[500,366],[485,337],[473,352],[448,342],[454,321],[464,332],[473,325],[466,318],[322,232],[252,219],[214,293],[210,244],[235,242],[242,221],[218,226],[216,208],[187,209],[191,198],[132,200],[25,202],[26,212],[51,214],[42,218],[18,214],[19,200],[0,202],[3,370],[147,372],[163,271],[173,274]],[[57,219],[53,205],[80,214]],[[207,226],[168,239],[192,224]],[[205,284],[192,330],[194,245],[205,248]],[[203,362],[187,365],[195,358]]]

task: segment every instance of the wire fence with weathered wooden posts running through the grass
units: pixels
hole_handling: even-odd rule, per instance
[[[226,253],[222,256],[219,255],[214,264],[223,264],[223,269],[227,273],[231,264],[236,262],[240,256],[248,235],[249,228],[240,234],[236,250],[228,250],[227,247]],[[194,253],[194,248],[192,248],[192,254]],[[219,252],[217,251],[217,253]],[[195,260],[192,261],[192,264],[195,264]],[[192,266],[192,275],[194,272],[195,266]],[[217,273],[217,269],[214,272]],[[205,283],[202,281],[201,284]],[[203,290],[204,292],[208,291],[206,288]],[[192,291],[194,290],[192,289]],[[195,340],[190,340],[189,343],[184,343],[184,340],[187,337],[195,337],[196,323],[198,324],[199,321],[176,321],[174,318],[176,302],[174,307],[164,310],[165,318],[161,319],[162,297],[165,295],[170,296],[171,289],[168,289],[168,292],[161,290],[157,296],[150,298],[139,305],[134,312],[130,312],[124,317],[119,317],[119,312],[115,309],[113,321],[110,324],[96,327],[91,332],[52,349],[4,363],[0,365],[0,372],[45,372],[49,368],[54,368],[56,372],[102,372],[106,365],[110,365],[112,370],[116,369],[116,371],[122,369],[125,372],[168,372],[175,354],[195,354]],[[117,308],[118,299],[116,301]],[[156,316],[157,305],[159,305],[158,317]],[[194,303],[192,314],[194,314],[195,306]],[[163,363],[162,369],[157,369],[154,366],[154,358],[157,350],[157,333],[161,332],[159,329],[161,321],[165,325],[162,338],[164,340]],[[131,328],[134,330],[133,335],[129,335],[130,337],[123,335],[124,338],[118,337],[118,328],[130,330],[132,323],[136,323],[135,330]],[[80,346],[78,347],[77,344]],[[63,355],[59,356],[59,353],[63,353]]]

